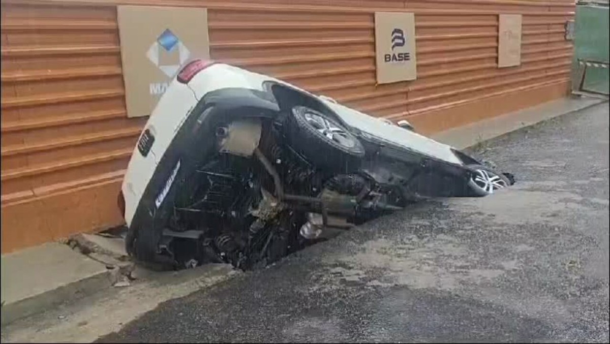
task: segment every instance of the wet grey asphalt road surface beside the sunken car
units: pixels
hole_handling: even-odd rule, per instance
[[[509,190],[379,218],[101,341],[608,342],[608,118],[487,143]]]

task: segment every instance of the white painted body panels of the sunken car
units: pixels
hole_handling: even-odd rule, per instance
[[[137,147],[134,148],[134,153],[131,156],[123,184],[121,185],[125,204],[124,218],[127,226],[131,225],[135,210],[161,157],[165,154],[174,135],[181,129],[182,124],[192,110],[195,109],[200,99],[211,91],[223,88],[246,88],[263,91],[264,82],[268,81],[277,82],[278,84],[286,85],[287,87],[312,95],[301,88],[279,81],[273,77],[252,73],[223,63],[214,63],[207,66],[199,71],[187,84],[182,84],[174,77],[156,108],[152,111],[145,126],[145,129],[149,129],[155,134],[151,150],[147,156],[142,156],[142,154],[138,154]],[[458,165],[463,164],[453,153],[451,146],[342,106],[328,97],[315,97],[336,112],[345,123],[361,129],[379,140],[391,138],[395,145],[404,146],[404,148],[420,152],[444,162]],[[168,181],[170,185],[166,185],[167,188],[171,186],[171,182],[173,182],[172,179]],[[160,194],[160,196],[163,195]]]

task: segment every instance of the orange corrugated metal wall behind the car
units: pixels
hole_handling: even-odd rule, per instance
[[[573,1],[3,0],[2,253],[120,224],[146,118],[126,118],[117,4],[209,9],[213,59],[432,133],[567,93]],[[418,80],[375,85],[375,10],[415,12]],[[523,14],[498,69],[498,13]]]

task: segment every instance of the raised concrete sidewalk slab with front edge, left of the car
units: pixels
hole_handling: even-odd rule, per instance
[[[1,257],[2,324],[110,287],[106,265],[61,243]]]

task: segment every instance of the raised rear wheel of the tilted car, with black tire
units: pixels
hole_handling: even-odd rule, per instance
[[[323,129],[312,124],[311,118],[323,118],[326,124],[330,124],[332,129],[336,129],[340,134],[329,133],[334,138],[327,137],[321,132]],[[333,118],[309,107],[292,108],[288,120],[288,134],[292,148],[318,167],[330,168],[333,171],[347,172],[356,169],[365,154],[362,143],[348,129]]]

